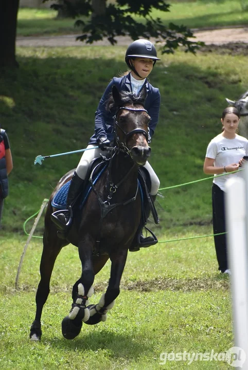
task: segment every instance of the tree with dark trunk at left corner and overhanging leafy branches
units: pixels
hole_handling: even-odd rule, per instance
[[[162,52],[167,53],[180,45],[186,51],[195,52],[203,44],[188,40],[193,33],[187,27],[170,23],[166,28],[160,18],[152,18],[152,9],[169,11],[167,0],[116,0],[115,3],[107,3],[107,0],[60,0],[60,3],[52,7],[57,10],[65,8],[73,18],[84,16],[86,21],[77,20],[75,24],[83,33],[78,39],[88,44],[107,37],[114,45],[116,36],[125,35],[133,40],[155,38],[164,43]],[[15,59],[18,9],[19,0],[0,0],[0,67],[18,66]],[[143,21],[136,21],[134,16]]]

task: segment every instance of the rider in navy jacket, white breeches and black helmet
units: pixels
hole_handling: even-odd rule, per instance
[[[119,91],[132,91],[135,94],[138,94],[143,86],[146,86],[147,98],[145,109],[147,109],[151,117],[149,134],[151,137],[154,134],[160,111],[160,91],[158,88],[153,87],[147,78],[157,60],[160,59],[157,58],[156,49],[148,40],[139,39],[128,46],[125,61],[131,71],[126,72],[122,77],[114,77],[105,89],[95,113],[95,134],[91,137],[87,146],[87,149],[93,147],[95,149],[85,151],[79,161],[78,167],[70,181],[66,201],[67,210],[56,211],[51,215],[52,220],[62,231],[67,231],[72,222],[71,206],[73,206],[76,198],[82,191],[88,165],[94,158],[100,156],[101,151],[103,154],[108,153],[104,148],[111,146],[114,140],[113,127],[115,112],[108,112],[105,109],[105,102],[110,96],[113,85]],[[160,180],[148,162],[146,162],[144,167],[148,170],[151,177],[151,196],[153,201],[155,201],[158,188],[160,187]],[[152,244],[152,242],[154,242],[152,236],[145,238],[142,233],[140,234],[140,247],[143,245],[147,246],[149,243]]]

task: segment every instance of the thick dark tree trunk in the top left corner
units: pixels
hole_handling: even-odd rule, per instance
[[[18,67],[15,39],[19,0],[0,1],[0,67]]]

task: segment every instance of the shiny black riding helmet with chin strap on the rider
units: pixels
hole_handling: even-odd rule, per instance
[[[130,62],[130,59],[134,59],[136,57],[153,59],[153,66],[157,60],[160,60],[157,58],[155,46],[149,40],[139,39],[132,42],[132,44],[127,48],[125,61],[128,67],[132,69],[138,77],[140,76]]]

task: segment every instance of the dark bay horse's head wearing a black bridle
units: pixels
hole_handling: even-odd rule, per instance
[[[149,142],[150,116],[144,108],[146,87],[138,95],[127,91],[119,93],[113,86],[107,109],[115,109],[115,143],[130,155],[138,165],[146,164],[151,154]]]

